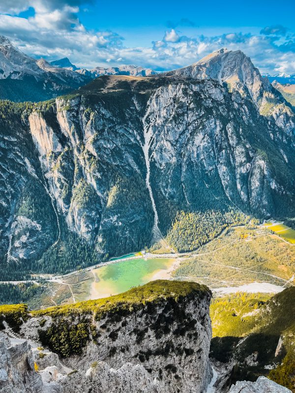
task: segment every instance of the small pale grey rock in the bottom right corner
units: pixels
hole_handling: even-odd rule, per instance
[[[256,382],[238,381],[232,386],[230,393],[291,393],[291,390],[271,381],[266,377],[259,377]]]

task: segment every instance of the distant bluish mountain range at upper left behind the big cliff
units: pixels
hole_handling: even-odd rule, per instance
[[[155,72],[133,65],[93,70],[80,69],[67,57],[47,62],[34,59],[0,36],[0,99],[44,101],[68,93],[101,75],[147,76]]]

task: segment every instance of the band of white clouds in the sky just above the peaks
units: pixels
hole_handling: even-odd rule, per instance
[[[90,1],[89,1],[90,2]],[[169,22],[162,36],[152,37],[147,47],[127,47],[113,31],[87,29],[78,18],[85,0],[5,0],[0,4],[0,34],[8,36],[24,53],[55,60],[69,57],[80,67],[137,64],[155,70],[169,70],[196,62],[214,50],[240,49],[250,56],[262,73],[295,72],[295,34],[282,26],[270,26],[261,34],[228,31],[216,35],[180,35],[177,26],[193,22]],[[28,18],[17,15],[28,7]],[[288,34],[286,33],[288,31]]]

